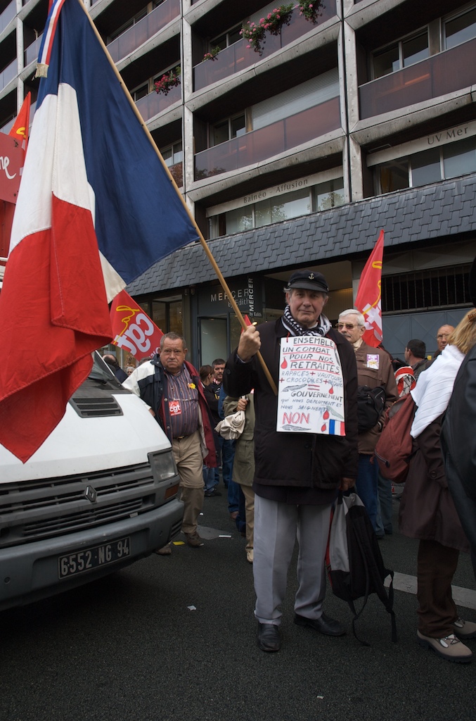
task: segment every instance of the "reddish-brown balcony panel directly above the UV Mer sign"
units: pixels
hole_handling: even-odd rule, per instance
[[[476,83],[476,38],[359,87],[360,117],[410,107]]]

